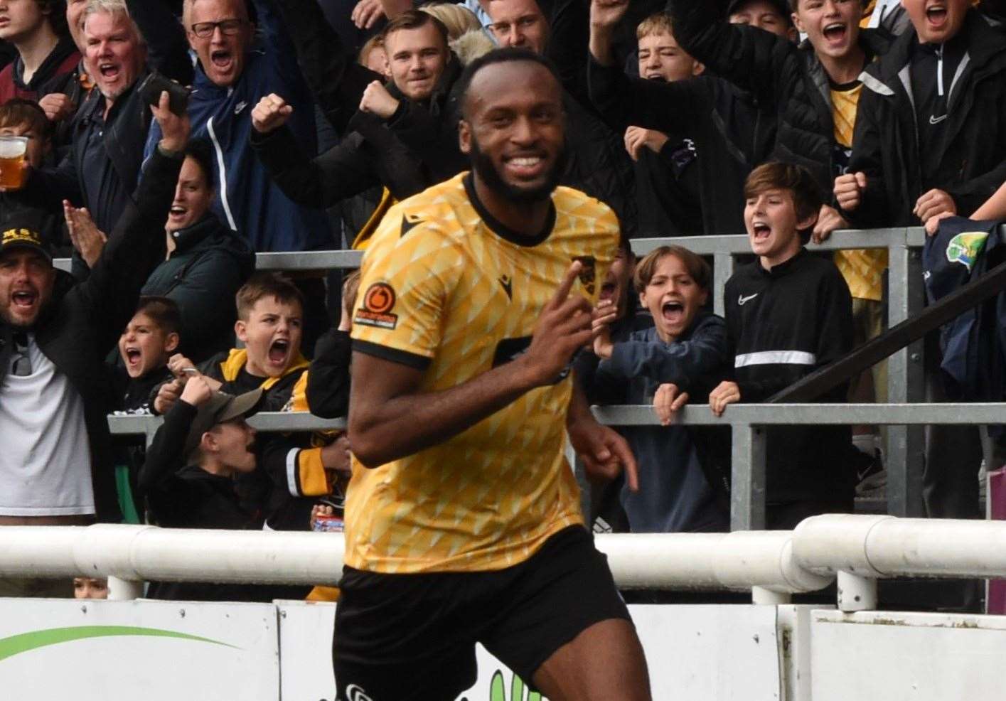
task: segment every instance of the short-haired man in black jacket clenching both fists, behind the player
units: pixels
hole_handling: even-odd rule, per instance
[[[447,28],[409,10],[388,22],[382,36],[391,80],[366,86],[338,146],[315,158],[305,154],[287,126],[297,108],[286,96],[267,96],[252,113],[252,145],[294,201],[329,207],[375,186],[402,200],[464,168],[457,130],[444,114],[461,74]]]

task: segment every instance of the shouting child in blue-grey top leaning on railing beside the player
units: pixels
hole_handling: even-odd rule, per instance
[[[689,396],[708,395],[728,368],[725,324],[704,311],[710,281],[708,265],[681,246],[661,246],[644,257],[636,269],[636,292],[654,326],[613,341],[609,325],[618,310],[602,302],[594,324],[594,352],[601,358],[595,385],[609,387],[609,397],[618,403],[665,402],[668,410]],[[640,476],[638,492],[622,490],[633,532],[727,528],[725,483],[706,477],[688,429],[624,430]]]

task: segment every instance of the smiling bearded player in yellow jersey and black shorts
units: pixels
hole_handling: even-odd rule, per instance
[[[556,187],[550,64],[492,51],[461,85],[472,171],[392,207],[364,258],[338,697],[457,698],[481,642],[550,698],[645,701],[643,651],[563,457],[567,429],[590,473],[624,467],[637,486],[569,373],[618,222]]]

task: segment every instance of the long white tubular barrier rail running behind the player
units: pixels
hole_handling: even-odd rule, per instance
[[[776,603],[838,574],[843,610],[875,607],[876,578],[1006,577],[1003,521],[843,514],[812,517],[794,531],[606,534],[596,542],[623,588],[750,589]],[[336,584],[343,548],[335,533],[9,526],[0,528],[0,576]],[[843,575],[855,600],[842,599]]]

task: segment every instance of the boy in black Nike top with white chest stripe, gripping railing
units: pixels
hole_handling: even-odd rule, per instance
[[[852,299],[835,264],[809,253],[821,193],[800,166],[767,163],[747,177],[744,224],[758,259],[725,288],[734,377],[709,394],[713,413],[765,401],[852,350]],[[817,397],[844,402],[847,384]],[[778,426],[766,446],[767,525],[791,529],[821,513],[851,511],[855,464],[848,426]]]

